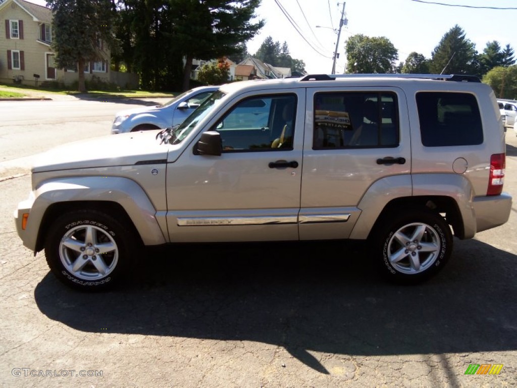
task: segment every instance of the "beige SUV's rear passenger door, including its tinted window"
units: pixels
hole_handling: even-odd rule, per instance
[[[300,217],[325,217],[300,223],[300,239],[346,238],[368,188],[411,171],[409,138],[400,135],[409,133],[406,98],[399,88],[309,89],[307,105]],[[385,158],[394,162],[378,162]]]

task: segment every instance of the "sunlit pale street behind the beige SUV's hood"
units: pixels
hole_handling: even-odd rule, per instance
[[[58,101],[0,101],[0,179],[23,173],[32,156],[59,144],[110,135],[115,113],[156,105],[169,98]]]

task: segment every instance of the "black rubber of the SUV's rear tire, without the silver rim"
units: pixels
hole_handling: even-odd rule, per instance
[[[407,211],[406,211],[407,212]],[[448,224],[442,216],[428,211],[409,211],[410,214],[402,216],[392,216],[390,219],[384,220],[384,227],[381,227],[377,235],[378,243],[375,244],[376,253],[380,252],[381,260],[379,260],[379,268],[382,274],[391,281],[398,283],[416,283],[429,279],[440,271],[448,262],[452,252],[452,233]],[[391,237],[395,232],[410,223],[420,222],[433,228],[440,240],[440,251],[437,259],[426,270],[418,274],[405,274],[397,271],[389,261],[388,246]]]

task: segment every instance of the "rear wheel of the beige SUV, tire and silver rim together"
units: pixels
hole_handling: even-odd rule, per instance
[[[437,213],[420,209],[403,212],[393,212],[381,222],[374,236],[376,254],[388,280],[418,283],[434,276],[447,263],[452,252],[452,232]]]

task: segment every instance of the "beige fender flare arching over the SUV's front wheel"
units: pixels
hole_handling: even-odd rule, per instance
[[[31,193],[29,200],[20,202],[16,222],[23,245],[32,250],[37,248],[41,222],[50,206],[78,202],[77,208],[80,210],[82,201],[118,203],[126,211],[145,245],[166,242],[156,218],[156,209],[140,185],[123,177],[80,176],[43,182]],[[23,213],[29,213],[25,230],[19,227]]]

